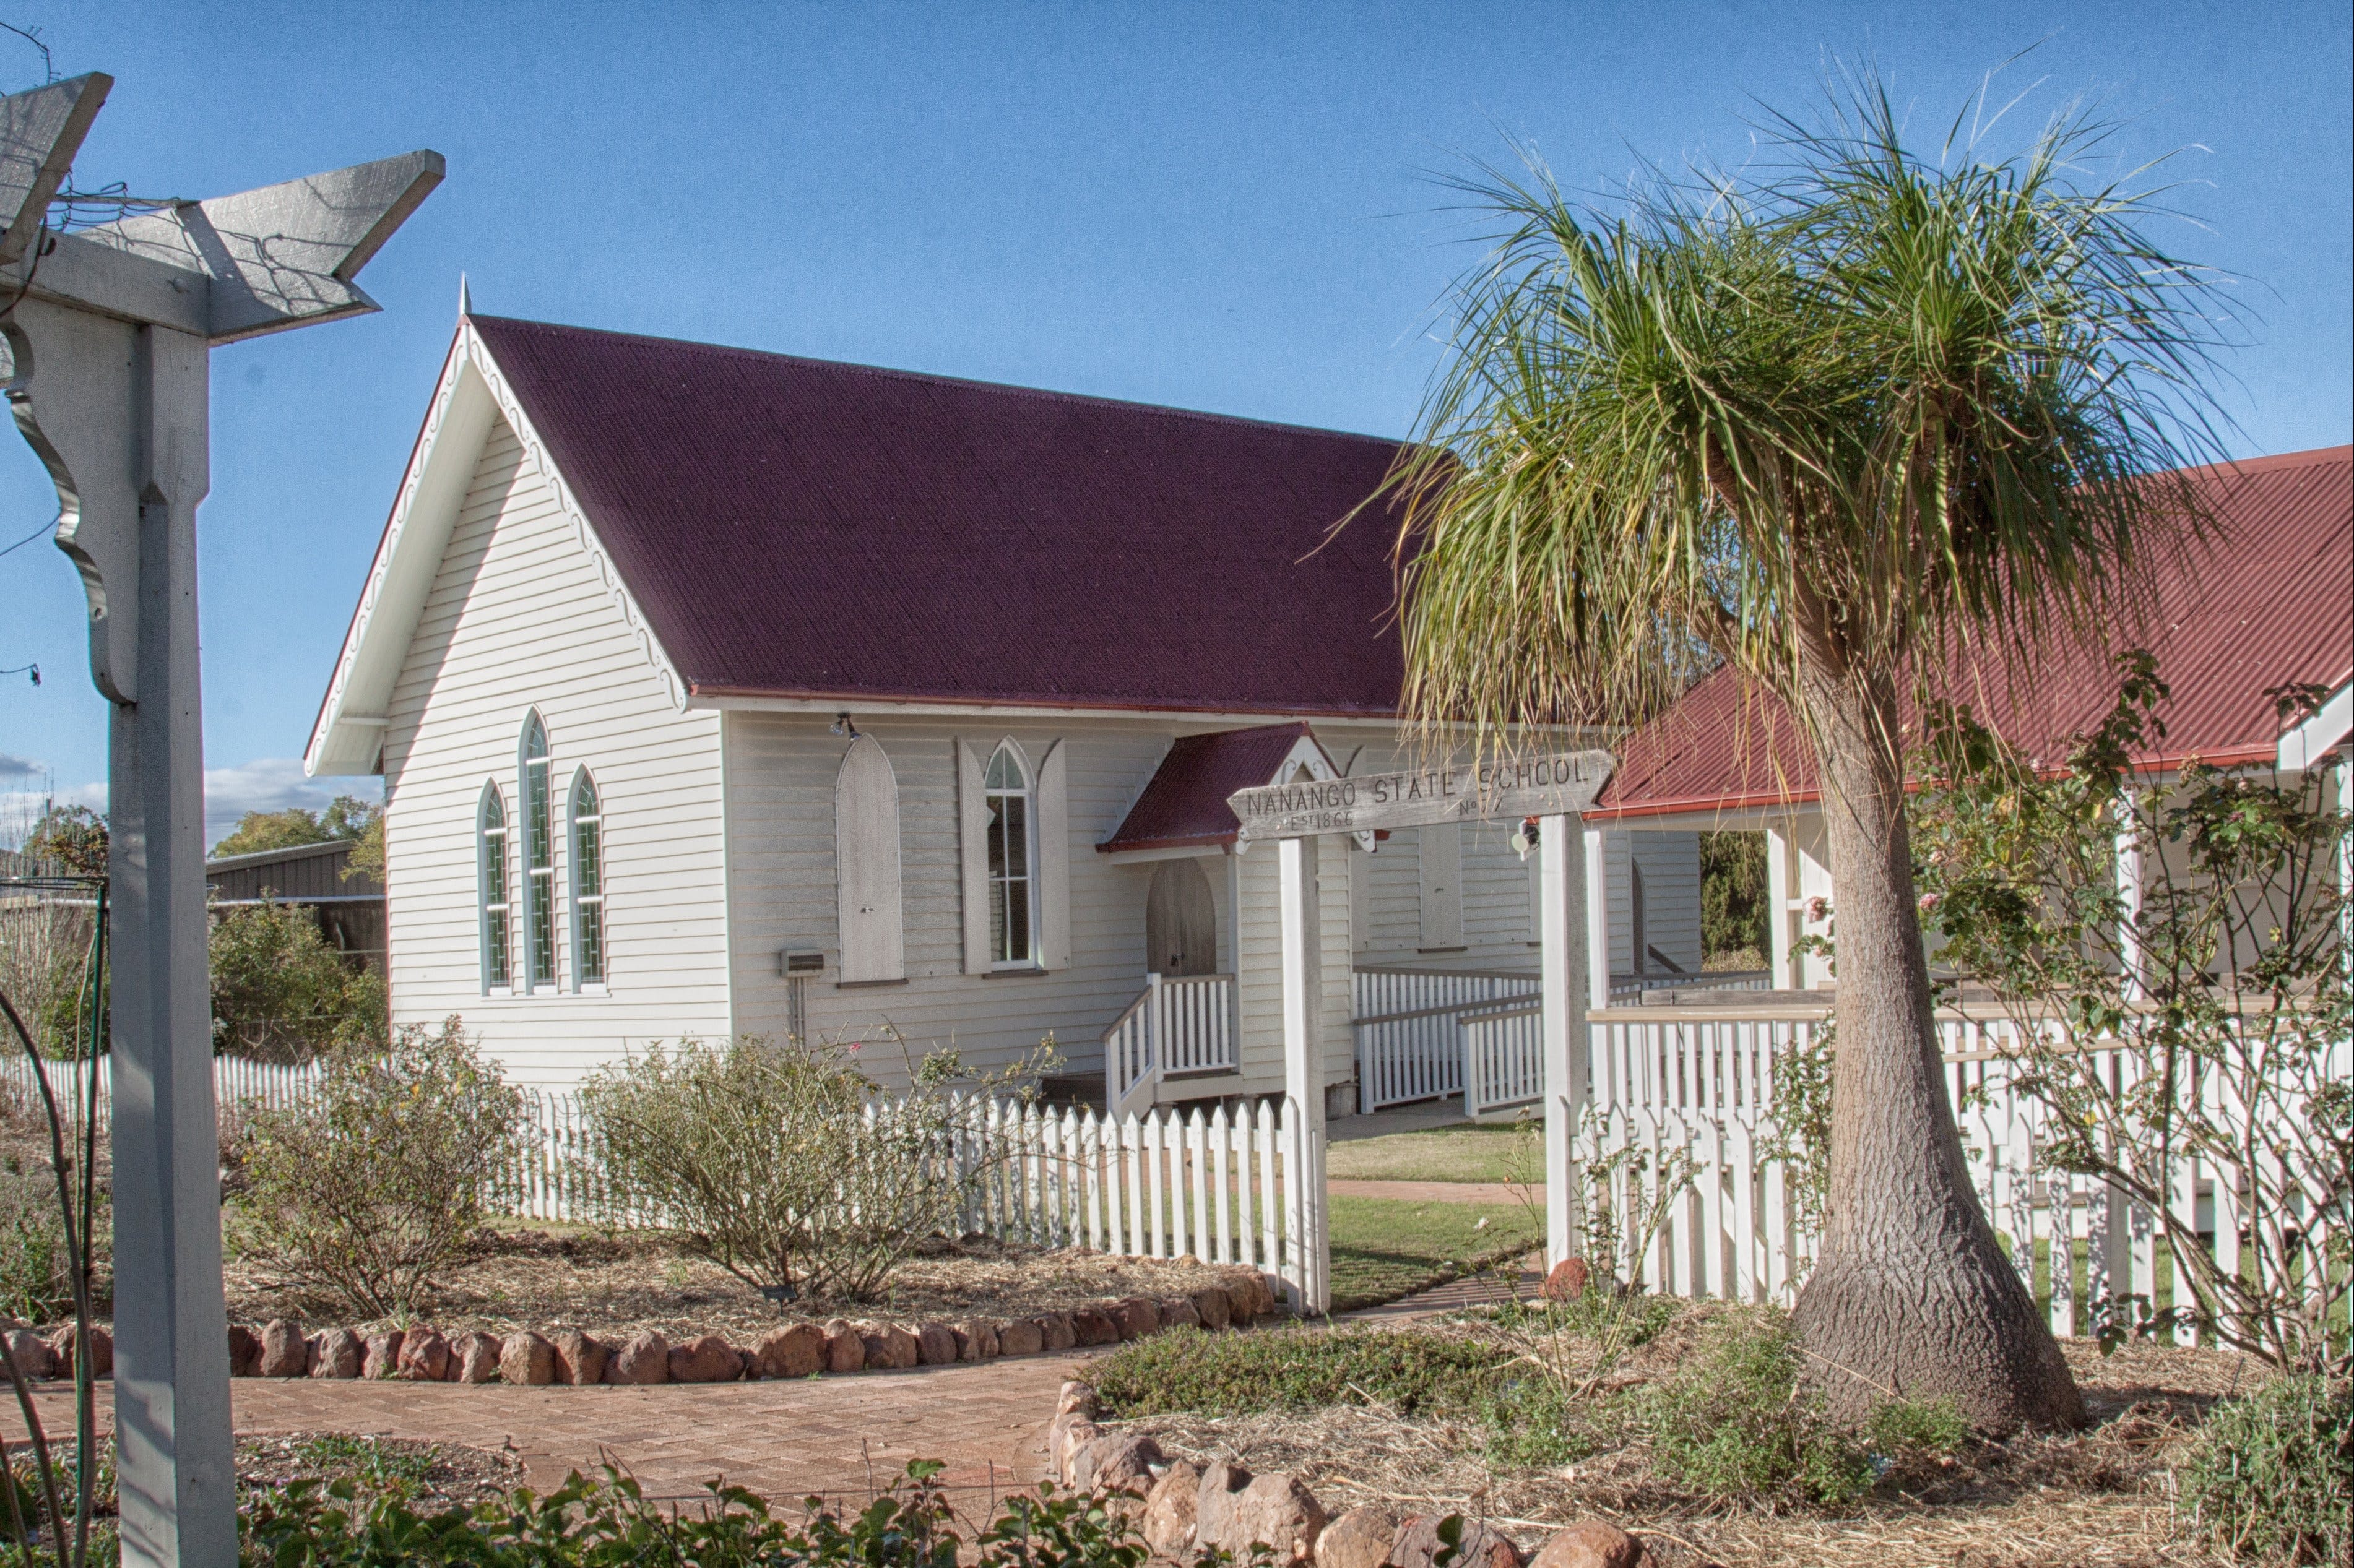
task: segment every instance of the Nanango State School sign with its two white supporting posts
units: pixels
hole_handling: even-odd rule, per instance
[[[1302,1311],[1330,1309],[1323,1220],[1323,1071],[1316,954],[1316,838],[1445,822],[1537,819],[1537,906],[1544,1038],[1544,1260],[1558,1264],[1582,1238],[1572,1135],[1587,1104],[1587,855],[1601,855],[1580,815],[1610,779],[1608,751],[1490,758],[1462,768],[1410,768],[1354,779],[1299,779],[1226,796],[1241,845],[1274,838],[1283,890],[1283,1092],[1299,1128],[1304,1170],[1285,1194],[1299,1248]],[[1589,843],[1594,838],[1596,843]]]

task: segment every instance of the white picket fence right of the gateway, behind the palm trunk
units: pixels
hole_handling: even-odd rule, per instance
[[[1580,1156],[1589,1170],[1608,1170],[1608,1205],[1627,1227],[1617,1238],[1620,1267],[1648,1288],[1742,1302],[1794,1300],[1815,1238],[1798,1224],[1782,1163],[1761,1151],[1775,1142],[1775,1052],[1813,1038],[1815,1029],[1820,1024],[1806,1017],[1591,1024],[1591,1099]],[[2048,1111],[2010,1088],[2006,1048],[2015,1048],[2015,1026],[1991,1017],[1942,1017],[1940,1036],[1977,1198],[2027,1288],[2046,1300],[2053,1333],[2090,1333],[2090,1314],[2104,1300],[2189,1304],[2187,1288],[2173,1290],[2159,1217],[2147,1205],[2039,1161]],[[2126,1069],[2126,1057],[2114,1057],[2112,1071]],[[2208,1081],[2203,1092],[2220,1090]],[[2229,1107],[2210,1111],[2229,1114]],[[1662,1158],[1678,1156],[1690,1161],[1693,1184],[1669,1205],[1653,1245],[1631,1257],[1641,1187],[1657,1180]],[[2168,1187],[2173,1205],[2196,1220],[2215,1262],[2239,1271],[2253,1191],[2243,1172],[2182,1158]],[[2323,1210],[2316,1194],[2300,1215],[2316,1260],[2330,1257],[2340,1241]],[[2180,1342],[2192,1337],[2187,1326],[2170,1333]],[[2345,1344],[2345,1318],[2333,1333]]]

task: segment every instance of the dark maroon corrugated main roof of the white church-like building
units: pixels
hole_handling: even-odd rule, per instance
[[[473,325],[697,695],[1398,706],[1396,443]]]

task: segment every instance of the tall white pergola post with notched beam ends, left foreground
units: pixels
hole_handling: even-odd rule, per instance
[[[210,348],[358,315],[353,283],[443,179],[419,151],[282,186],[47,226],[113,80],[0,99],[0,337],[56,485],[108,718],[115,1469],[122,1563],[233,1568],[238,1486],[205,975],[195,506]]]

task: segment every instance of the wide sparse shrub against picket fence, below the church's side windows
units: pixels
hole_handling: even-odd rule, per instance
[[[1003,1156],[951,1090],[1005,1074],[972,1078],[953,1052],[911,1067],[906,1095],[800,1041],[685,1041],[607,1067],[581,1088],[607,1217],[669,1229],[779,1300],[805,1283],[869,1300],[918,1243],[963,1229]]]

